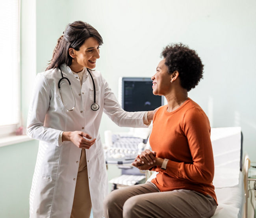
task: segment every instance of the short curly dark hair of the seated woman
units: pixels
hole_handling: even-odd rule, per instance
[[[165,58],[165,65],[170,74],[174,71],[179,72],[180,85],[187,91],[195,88],[203,78],[204,65],[197,52],[189,49],[187,45],[182,43],[167,45],[161,57]]]

